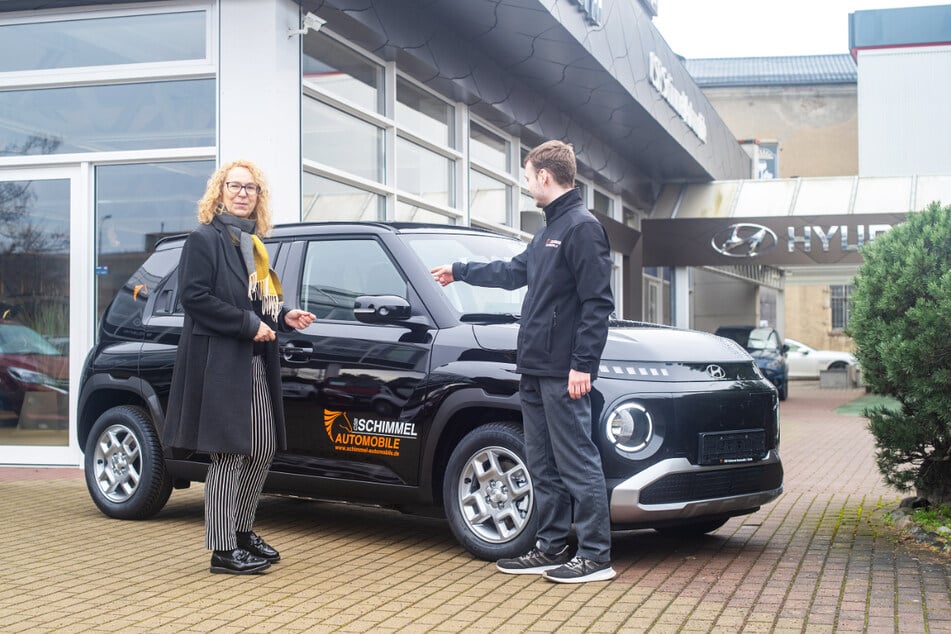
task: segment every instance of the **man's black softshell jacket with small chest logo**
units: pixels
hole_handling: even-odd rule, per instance
[[[518,371],[594,379],[614,310],[611,250],[604,226],[577,189],[545,207],[545,229],[509,262],[456,262],[452,276],[476,286],[528,285],[518,333]]]

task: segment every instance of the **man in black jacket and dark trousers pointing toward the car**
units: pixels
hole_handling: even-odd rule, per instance
[[[601,457],[591,438],[591,384],[614,309],[604,227],[574,188],[571,145],[548,141],[525,159],[525,178],[546,226],[511,261],[443,265],[453,281],[506,289],[528,286],[518,334],[517,369],[526,458],[535,484],[535,547],[496,565],[509,574],[543,574],[559,583],[607,581],[611,532]],[[568,552],[571,502],[578,551]]]

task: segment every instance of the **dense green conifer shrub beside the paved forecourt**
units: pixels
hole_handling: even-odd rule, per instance
[[[900,408],[866,410],[885,482],[951,503],[951,206],[932,203],[862,250],[847,333],[866,385]]]

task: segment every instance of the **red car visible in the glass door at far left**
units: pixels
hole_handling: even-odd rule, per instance
[[[0,320],[0,425],[66,429],[69,357],[35,330]]]

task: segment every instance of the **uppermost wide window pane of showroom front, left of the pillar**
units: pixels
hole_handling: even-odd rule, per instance
[[[204,58],[204,11],[0,26],[0,72]]]

